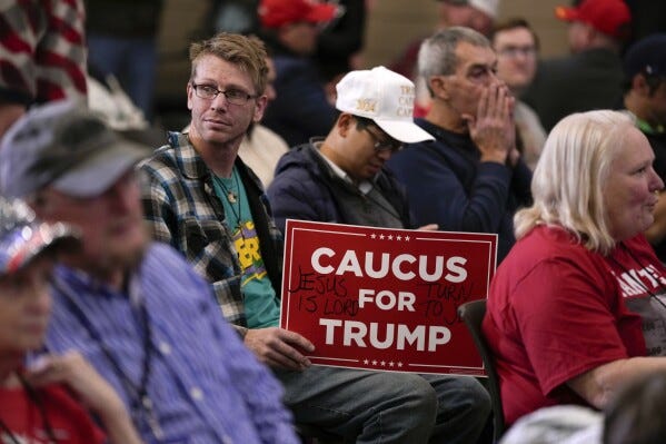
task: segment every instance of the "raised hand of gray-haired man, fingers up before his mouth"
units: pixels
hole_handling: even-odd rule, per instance
[[[463,115],[469,136],[481,151],[480,161],[505,164],[516,147],[515,99],[501,82],[484,88],[476,116]]]

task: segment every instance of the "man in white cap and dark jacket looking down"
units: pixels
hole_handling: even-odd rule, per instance
[[[384,168],[402,144],[434,140],[414,124],[414,83],[384,67],[336,86],[341,111],[326,138],[282,156],[268,188],[274,217],[414,228],[402,187]]]

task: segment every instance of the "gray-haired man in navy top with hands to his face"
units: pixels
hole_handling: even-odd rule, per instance
[[[501,262],[515,243],[511,218],[531,201],[531,171],[516,147],[515,100],[495,75],[497,56],[480,33],[453,27],[424,41],[418,67],[433,105],[416,125],[435,140],[407,144],[386,165],[418,225],[497,234]]]

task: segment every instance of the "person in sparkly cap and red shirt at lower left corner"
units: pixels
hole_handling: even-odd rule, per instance
[[[27,355],[44,341],[54,254],[76,244],[67,226],[38,223],[20,201],[0,199],[2,443],[141,442],[120,397],[80,354],[43,355],[24,366]],[[107,437],[83,405],[100,420]]]

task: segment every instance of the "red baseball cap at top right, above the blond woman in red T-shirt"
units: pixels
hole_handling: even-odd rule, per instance
[[[584,0],[575,8],[555,8],[555,17],[564,21],[585,22],[618,39],[629,36],[632,23],[632,13],[623,0]]]

